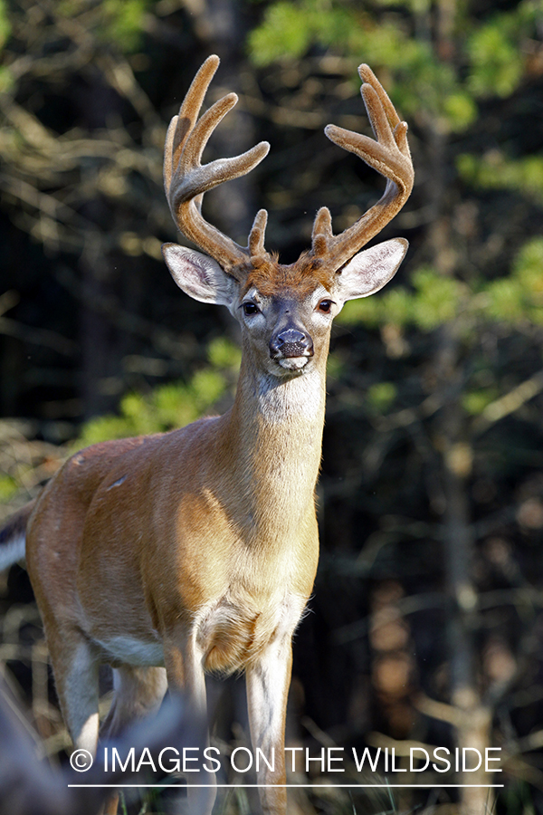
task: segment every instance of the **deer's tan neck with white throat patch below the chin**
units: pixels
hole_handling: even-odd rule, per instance
[[[229,417],[233,478],[257,536],[294,534],[314,517],[325,408],[325,365],[288,378],[243,360]]]

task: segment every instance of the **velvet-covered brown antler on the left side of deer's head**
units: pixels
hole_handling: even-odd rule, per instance
[[[258,244],[258,252],[252,253],[250,246],[243,248],[205,221],[201,213],[202,198],[207,190],[249,173],[268,154],[270,145],[267,141],[261,141],[240,156],[217,158],[204,166],[200,164],[209,137],[238,101],[235,93],[228,93],[198,120],[205,93],[219,62],[215,55],[205,60],[186,93],[179,114],[170,122],[164,151],[164,186],[179,230],[206,254],[214,257],[225,272],[242,280],[245,276],[243,266],[247,265],[251,255],[266,254],[263,246],[266,219],[262,222],[262,216],[260,218],[260,237],[250,238],[249,244],[254,244],[255,240]],[[255,225],[259,216],[255,219]]]

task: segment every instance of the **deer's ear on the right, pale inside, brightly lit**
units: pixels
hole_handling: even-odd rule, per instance
[[[346,302],[368,297],[392,280],[407,252],[404,238],[394,238],[355,254],[338,274],[339,296]]]

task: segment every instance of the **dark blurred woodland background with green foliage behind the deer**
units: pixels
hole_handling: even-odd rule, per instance
[[[503,772],[464,781],[505,788],[440,788],[461,779],[428,770],[401,781],[434,789],[296,807],[543,812],[541,0],[0,0],[0,49],[1,521],[76,448],[232,403],[233,322],[179,292],[160,254],[180,240],[167,122],[205,57],[222,59],[206,104],[240,96],[206,160],[271,142],[206,216],[245,245],[266,207],[283,263],[319,206],[338,232],[380,196],[323,128],[369,132],[360,62],[384,83],[415,186],[380,239],[410,250],[333,333],[289,743],[500,747]],[[4,675],[54,755],[68,742],[20,567],[0,612]],[[249,811],[243,794],[224,811]]]

